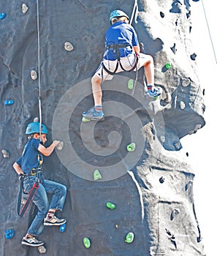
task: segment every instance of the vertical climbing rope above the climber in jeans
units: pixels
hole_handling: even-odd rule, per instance
[[[39,135],[42,135],[42,97],[41,97],[41,75],[40,75],[40,29],[39,29],[39,0],[37,0],[37,42],[38,42],[38,81],[39,81]]]

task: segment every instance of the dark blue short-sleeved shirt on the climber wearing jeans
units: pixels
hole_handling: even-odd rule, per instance
[[[38,160],[38,148],[39,148],[40,140],[35,138],[31,138],[26,143],[22,156],[16,161],[18,165],[20,165],[23,173],[30,174],[32,168],[37,168],[39,166]]]

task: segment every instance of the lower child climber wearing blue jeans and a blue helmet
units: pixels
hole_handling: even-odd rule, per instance
[[[59,141],[54,140],[47,148],[43,146],[42,144],[47,140],[47,127],[41,124],[41,129],[39,129],[39,126],[40,124],[37,122],[28,124],[26,128],[28,142],[23,149],[22,156],[13,165],[19,178],[23,178],[24,192],[31,194],[34,184],[39,184],[33,197],[33,202],[37,206],[38,212],[21,242],[21,244],[28,246],[41,246],[44,244],[44,242],[35,238],[42,232],[40,227],[42,222],[45,226],[63,225],[66,222],[66,219],[58,219],[55,215],[57,210],[61,211],[64,207],[66,187],[55,181],[44,179],[42,176],[42,156],[50,156],[54,148],[58,146]],[[52,194],[50,205],[47,193]]]

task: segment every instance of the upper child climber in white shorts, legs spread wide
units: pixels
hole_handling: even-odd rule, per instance
[[[129,17],[125,12],[115,10],[110,14],[110,24],[105,34],[105,52],[102,62],[91,79],[94,107],[83,113],[83,117],[89,120],[104,118],[101,83],[103,80],[111,80],[115,73],[136,71],[144,67],[147,80],[145,94],[151,98],[161,94],[161,89],[154,86],[153,58],[140,53],[137,33],[129,24]]]

